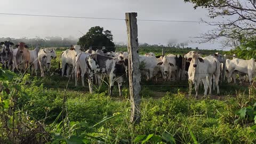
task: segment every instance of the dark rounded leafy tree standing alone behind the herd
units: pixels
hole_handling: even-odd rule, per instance
[[[107,51],[115,51],[115,44],[113,42],[113,35],[110,30],[103,30],[103,27],[91,27],[89,31],[77,42],[82,47],[93,46],[92,50],[102,49],[106,46]]]

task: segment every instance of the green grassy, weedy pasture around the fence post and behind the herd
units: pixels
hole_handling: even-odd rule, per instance
[[[117,51],[125,50],[117,47]],[[113,96],[108,97],[108,85],[105,82],[95,86],[94,94],[89,94],[86,79],[85,87],[81,86],[81,79],[75,87],[74,79],[69,81],[69,78],[53,73],[58,68],[61,51],[57,49],[57,59],[52,60],[51,75],[41,78],[16,74],[6,84],[11,94],[1,93],[0,113],[7,115],[7,118],[1,118],[0,143],[256,142],[254,86],[222,83],[220,95],[215,95],[213,91],[212,96],[199,95],[199,98],[194,98],[188,96],[186,81],[143,80],[141,122],[131,124],[127,82],[124,84],[122,98],[118,96],[117,85]],[[191,49],[166,49],[166,54],[183,54],[188,51]],[[162,49],[141,48],[140,54],[147,52],[158,55]],[[215,51],[201,52],[208,55]],[[12,97],[16,90],[17,94]],[[203,94],[202,87],[199,93]],[[64,105],[63,98],[66,99]],[[65,111],[62,111],[63,106]],[[10,107],[11,110],[15,108],[15,117],[8,112]],[[20,130],[20,127],[24,128]],[[13,130],[17,137],[12,139],[13,135],[8,133],[8,129],[11,132]]]

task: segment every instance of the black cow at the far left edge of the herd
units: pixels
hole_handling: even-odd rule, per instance
[[[12,66],[12,55],[13,55],[13,43],[9,41],[1,42],[0,45],[2,45],[1,51],[0,51],[0,58],[1,63],[3,65],[3,68],[11,68]]]

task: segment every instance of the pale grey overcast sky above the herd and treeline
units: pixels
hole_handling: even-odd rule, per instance
[[[75,17],[125,18],[125,12],[137,12],[137,19],[213,21],[204,9],[193,9],[182,0],[8,0],[1,1],[0,13],[63,15]],[[124,20],[95,20],[0,15],[0,37],[74,36],[79,38],[93,26],[111,30],[114,42],[126,42]],[[138,21],[140,43],[166,44],[169,39],[189,41],[213,27],[204,23]],[[193,47],[221,47],[220,43],[189,44]]]

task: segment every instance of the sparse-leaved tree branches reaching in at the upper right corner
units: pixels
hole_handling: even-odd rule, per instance
[[[242,38],[250,38],[256,34],[256,1],[255,0],[184,0],[194,4],[194,8],[204,7],[210,18],[222,17],[226,21],[203,22],[215,26],[213,30],[202,34],[200,42],[209,42],[225,37],[225,45],[240,44]],[[231,41],[230,41],[231,40]]]

